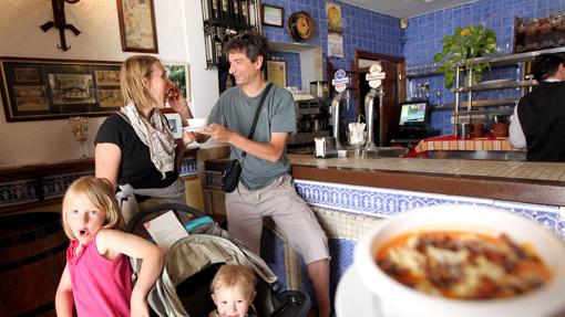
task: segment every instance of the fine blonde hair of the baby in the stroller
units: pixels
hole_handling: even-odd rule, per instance
[[[255,294],[255,274],[245,265],[224,265],[212,281],[209,290],[215,293],[218,288],[242,287],[249,297]]]

